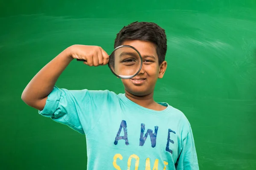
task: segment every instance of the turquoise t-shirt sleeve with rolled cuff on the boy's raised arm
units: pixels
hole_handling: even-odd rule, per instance
[[[102,105],[110,100],[110,91],[67,90],[54,86],[42,116],[67,125],[81,134],[87,134],[102,115]],[[105,105],[106,106],[106,105]]]

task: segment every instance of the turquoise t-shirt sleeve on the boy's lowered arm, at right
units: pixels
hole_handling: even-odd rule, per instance
[[[177,170],[199,170],[198,157],[191,126],[185,139],[183,139],[182,150],[175,164]]]

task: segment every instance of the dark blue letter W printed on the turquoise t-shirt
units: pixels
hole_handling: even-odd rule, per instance
[[[145,136],[143,137],[145,132],[145,124],[142,123],[140,128],[140,146],[144,145],[145,140],[147,139],[148,133],[149,133],[150,140],[151,140],[151,147],[155,147],[157,142],[157,130],[158,130],[158,126],[155,126],[154,133],[153,133],[153,130],[148,129],[147,132],[145,133]]]

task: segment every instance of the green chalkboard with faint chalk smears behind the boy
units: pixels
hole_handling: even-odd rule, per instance
[[[200,169],[256,169],[256,0],[1,0],[1,170],[86,169],[85,136],[40,116],[21,94],[64,48],[110,53],[134,21],[166,30],[168,68],[154,99],[189,119]],[[75,60],[57,86],[124,92],[108,66]]]

